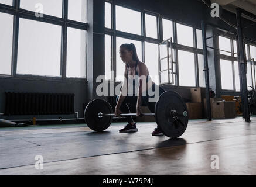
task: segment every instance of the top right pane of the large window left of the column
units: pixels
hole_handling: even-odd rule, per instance
[[[70,20],[86,23],[87,0],[69,1],[68,15]]]

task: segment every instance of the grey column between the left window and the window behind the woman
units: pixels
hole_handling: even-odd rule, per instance
[[[105,74],[105,1],[87,1],[87,102],[90,102],[97,98],[97,77]]]

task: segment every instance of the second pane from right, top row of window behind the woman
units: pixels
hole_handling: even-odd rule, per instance
[[[177,23],[178,44],[194,47],[193,28]]]

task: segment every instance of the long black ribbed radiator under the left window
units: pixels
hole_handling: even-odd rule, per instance
[[[73,113],[74,94],[5,92],[5,115]]]

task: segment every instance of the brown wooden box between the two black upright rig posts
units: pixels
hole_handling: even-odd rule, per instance
[[[211,105],[211,117],[213,118],[224,119],[237,117],[235,101],[212,102]]]

